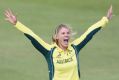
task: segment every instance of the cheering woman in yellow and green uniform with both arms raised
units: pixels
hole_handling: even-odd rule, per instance
[[[70,42],[71,29],[64,24],[59,25],[53,35],[53,44],[47,44],[29,28],[20,23],[11,10],[5,11],[6,20],[15,25],[41,52],[49,69],[50,80],[79,80],[79,52],[91,40],[94,34],[101,30],[112,18],[112,6],[107,16],[92,25],[80,38]]]

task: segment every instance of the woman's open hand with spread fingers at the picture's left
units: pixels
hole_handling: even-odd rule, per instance
[[[6,21],[12,23],[13,25],[16,25],[16,23],[17,23],[17,17],[13,14],[13,12],[10,9],[5,10],[4,15],[6,17],[5,18]]]

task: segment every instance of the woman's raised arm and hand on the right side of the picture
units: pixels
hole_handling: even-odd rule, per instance
[[[105,27],[109,20],[112,18],[112,6],[110,6],[107,16],[103,17],[100,21],[88,28],[88,30],[81,35],[80,38],[74,40],[72,44],[76,46],[78,52],[92,39],[101,28]]]

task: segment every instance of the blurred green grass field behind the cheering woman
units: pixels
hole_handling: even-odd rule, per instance
[[[113,19],[80,52],[81,80],[119,80],[119,0],[0,0],[0,80],[48,80],[44,57],[4,20],[6,9],[51,43],[58,24],[69,24],[77,38],[105,16],[111,4]]]

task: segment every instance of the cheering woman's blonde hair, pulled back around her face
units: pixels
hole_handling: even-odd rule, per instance
[[[53,43],[58,44],[58,40],[56,39],[56,36],[57,36],[57,34],[59,33],[59,31],[60,31],[62,28],[66,28],[66,29],[68,29],[68,30],[70,31],[70,34],[72,33],[72,29],[71,29],[70,26],[68,26],[68,25],[66,25],[66,24],[60,24],[58,27],[56,27],[55,32],[54,32],[54,34],[53,34],[53,36],[52,36],[52,41],[53,41]]]

